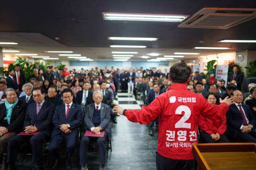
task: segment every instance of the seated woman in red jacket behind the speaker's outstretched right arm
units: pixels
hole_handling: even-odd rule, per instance
[[[212,105],[219,102],[219,97],[214,92],[206,94],[205,98]],[[199,127],[200,135],[206,143],[229,143],[228,138],[224,135],[227,128],[226,115],[218,120],[211,120],[200,115]]]

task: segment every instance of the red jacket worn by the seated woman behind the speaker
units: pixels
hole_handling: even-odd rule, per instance
[[[212,135],[212,133],[214,134],[219,133],[220,135],[222,135],[227,129],[226,120],[227,120],[226,115],[224,115],[222,119],[218,119],[218,120],[211,120],[200,115],[200,119],[199,119],[200,131],[206,132],[209,135]]]

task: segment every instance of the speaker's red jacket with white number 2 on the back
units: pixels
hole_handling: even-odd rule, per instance
[[[141,110],[126,110],[129,121],[148,124],[159,117],[158,150],[166,158],[193,159],[192,144],[198,143],[200,114],[209,119],[221,119],[229,107],[209,104],[204,96],[187,90],[185,84],[173,84]]]

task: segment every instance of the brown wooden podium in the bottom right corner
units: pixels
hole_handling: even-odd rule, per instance
[[[255,143],[193,144],[194,170],[256,170]]]

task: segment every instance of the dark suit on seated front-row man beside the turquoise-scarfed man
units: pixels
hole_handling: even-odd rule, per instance
[[[26,116],[23,124],[23,130],[27,126],[36,126],[38,131],[41,132],[38,135],[16,135],[12,137],[8,144],[8,160],[7,162],[14,162],[20,145],[24,142],[29,142],[33,151],[33,162],[42,160],[42,142],[50,138],[52,134],[52,115],[54,112],[54,104],[44,101],[44,104],[40,107],[38,115],[36,115],[37,103],[30,104],[26,110]]]

